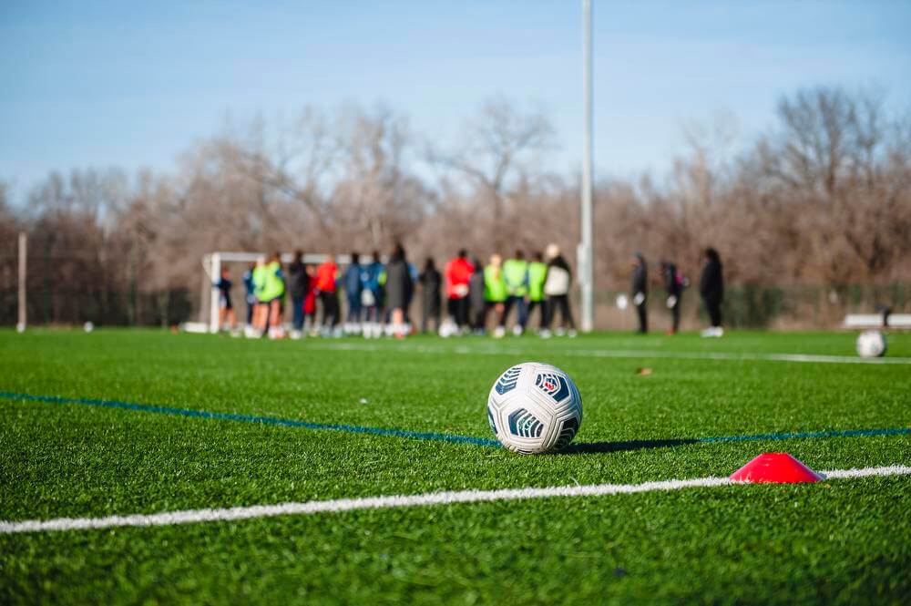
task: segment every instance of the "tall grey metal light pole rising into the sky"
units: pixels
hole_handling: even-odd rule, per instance
[[[591,87],[591,0],[582,0],[582,74],[585,98],[585,128],[582,134],[582,196],[581,241],[578,246],[578,282],[582,291],[582,331],[591,332],[594,326],[594,255],[591,226],[591,165],[592,165],[592,87]]]

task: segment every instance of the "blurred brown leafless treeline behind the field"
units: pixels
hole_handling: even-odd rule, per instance
[[[597,290],[623,289],[636,251],[696,276],[710,244],[729,283],[813,285],[836,307],[850,285],[911,281],[908,116],[875,95],[801,90],[748,149],[726,151],[723,129],[691,130],[663,179],[599,180]],[[186,319],[205,287],[200,258],[217,250],[403,241],[419,263],[555,241],[574,261],[579,180],[548,169],[548,117],[495,100],[458,133],[427,141],[385,107],[304,108],[226,128],[168,174],[55,173],[25,208],[0,187],[0,319],[15,322],[17,231],[29,234],[29,315],[45,323]]]

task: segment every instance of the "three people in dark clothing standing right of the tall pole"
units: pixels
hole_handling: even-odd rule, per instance
[[[718,251],[707,248],[703,253],[703,261],[699,293],[709,316],[710,325],[702,331],[702,336],[720,337],[724,334],[722,329],[722,301],[724,299],[722,260]],[[677,265],[672,262],[660,262],[658,270],[667,295],[665,303],[670,310],[671,321],[668,334],[676,334],[680,330],[681,323],[681,297],[690,282],[683,277],[677,269]],[[632,302],[639,320],[637,332],[645,334],[649,332],[649,265],[640,252],[635,253],[632,257],[631,282]]]

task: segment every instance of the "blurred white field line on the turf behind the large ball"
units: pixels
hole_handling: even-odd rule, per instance
[[[529,355],[524,349],[510,347],[468,347],[459,345],[453,349],[435,347],[432,345],[416,345],[403,347],[384,347],[374,344],[337,343],[337,344],[307,344],[311,349],[341,350],[356,352],[392,352],[392,353],[418,353],[418,354],[470,354],[470,355]],[[882,357],[862,358],[853,355],[816,355],[816,354],[756,354],[751,352],[665,352],[660,350],[612,350],[612,349],[553,349],[549,353],[570,355],[576,357],[600,358],[670,358],[681,360],[727,360],[733,362],[760,361],[760,362],[809,362],[818,364],[870,364],[870,365],[911,365],[909,357]]]

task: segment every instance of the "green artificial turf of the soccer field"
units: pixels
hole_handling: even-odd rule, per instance
[[[853,356],[854,335],[399,343],[2,331],[6,394],[485,439],[490,385],[539,360],[576,380],[585,419],[574,444],[587,446],[520,457],[5,396],[0,519],[727,476],[767,451],[816,469],[911,464],[908,435],[691,443],[911,427],[911,365],[694,357],[720,352]],[[890,334],[888,357],[902,356],[911,335]],[[0,534],[0,603],[907,603],[908,570],[907,476]]]

